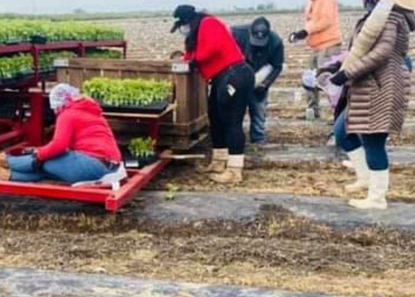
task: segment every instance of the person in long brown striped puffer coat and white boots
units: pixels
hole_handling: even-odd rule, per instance
[[[368,14],[357,23],[350,45],[350,51],[357,49],[356,53],[331,78],[333,84],[349,88],[347,108],[337,119],[334,132],[337,145],[347,152],[357,175],[357,181],[345,190],[351,193],[368,189],[366,199],[352,199],[349,204],[385,209],[389,187],[386,140],[389,134],[401,131],[411,89],[404,59],[409,33],[415,31],[415,1],[363,2]],[[384,9],[388,5],[389,10]],[[370,32],[370,26],[364,27],[365,22],[373,21],[375,10],[387,12],[378,36],[370,34],[375,29]],[[357,42],[360,44],[353,44]]]

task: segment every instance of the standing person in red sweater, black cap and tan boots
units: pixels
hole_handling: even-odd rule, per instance
[[[189,5],[174,11],[171,33],[185,37],[183,60],[194,65],[211,85],[208,113],[213,142],[212,162],[202,171],[220,183],[242,181],[245,134],[243,120],[255,76],[227,25],[216,17],[196,12]]]

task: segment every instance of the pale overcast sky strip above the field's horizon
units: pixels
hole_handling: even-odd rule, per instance
[[[139,12],[172,10],[182,3],[194,4],[207,9],[230,9],[234,6],[249,7],[273,2],[278,8],[301,7],[307,0],[0,0],[0,12],[22,14],[61,14],[77,8],[87,12]],[[340,0],[347,5],[359,5],[361,0]]]

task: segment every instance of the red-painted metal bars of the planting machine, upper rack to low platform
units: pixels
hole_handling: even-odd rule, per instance
[[[0,145],[8,145],[6,151],[21,150],[25,146],[39,146],[44,139],[44,106],[48,95],[39,92],[29,92],[30,87],[39,84],[39,53],[50,50],[77,50],[79,56],[85,55],[87,48],[122,47],[126,56],[127,44],[125,42],[61,42],[46,45],[23,44],[17,46],[0,47],[0,55],[18,52],[31,52],[34,57],[35,78],[27,85],[22,86],[21,92],[2,92],[20,99],[29,96],[30,117],[25,121],[17,117],[15,120],[0,119],[0,126],[8,129],[0,133]],[[128,119],[125,119],[128,120]],[[149,126],[149,135],[158,138],[158,122],[160,118],[144,119]],[[17,196],[34,196],[56,200],[72,200],[88,203],[104,204],[109,211],[117,211],[134,197],[151,179],[159,174],[169,163],[168,159],[161,159],[141,170],[128,170],[128,179],[121,184],[119,190],[102,187],[71,187],[70,185],[57,185],[50,183],[21,183],[0,182],[0,194]]]

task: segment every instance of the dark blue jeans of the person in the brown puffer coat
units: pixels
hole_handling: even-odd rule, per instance
[[[370,170],[386,170],[389,161],[386,152],[386,133],[347,134],[346,110],[341,113],[334,124],[336,143],[347,153],[363,146],[366,152],[367,166]]]

